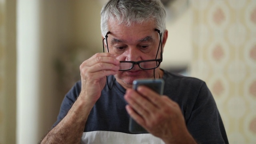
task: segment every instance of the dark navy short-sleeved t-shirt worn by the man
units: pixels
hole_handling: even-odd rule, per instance
[[[228,144],[226,131],[214,98],[205,82],[197,78],[180,76],[164,71],[164,95],[177,102],[184,115],[188,131],[198,143]],[[101,96],[92,108],[84,132],[111,131],[130,134],[129,115],[124,100],[125,88],[108,76],[110,90],[106,84]],[[68,113],[81,91],[77,82],[66,94],[58,115],[56,126]]]

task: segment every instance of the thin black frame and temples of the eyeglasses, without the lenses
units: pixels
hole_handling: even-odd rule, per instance
[[[134,65],[135,64],[138,64],[138,66],[141,68],[141,69],[143,69],[143,70],[152,70],[152,69],[155,69],[155,68],[158,68],[159,66],[160,66],[160,63],[162,62],[162,60],[163,60],[163,50],[162,50],[162,32],[160,32],[160,30],[158,30],[157,28],[155,28],[154,29],[156,32],[158,32],[158,34],[159,34],[159,36],[160,36],[160,42],[159,42],[159,45],[158,45],[158,50],[157,50],[157,53],[156,53],[156,58],[155,59],[153,59],[153,60],[140,60],[140,61],[137,61],[137,62],[134,62],[134,61],[120,61],[120,63],[132,63],[132,66],[129,68],[129,69],[126,69],[126,70],[119,70],[119,71],[127,71],[127,70],[131,70],[133,67],[134,67]],[[110,31],[108,31],[107,33],[106,33],[106,36],[105,36],[105,38],[102,40],[102,44],[103,44],[103,52],[105,52],[105,50],[104,50],[104,40],[106,40],[106,46],[107,46],[107,50],[108,50],[108,34],[110,34]],[[161,52],[160,52],[160,58],[159,59],[157,59],[157,56],[158,56],[158,52],[159,52],[159,48],[160,48],[160,46],[161,46]],[[109,52],[109,50],[108,50],[108,52]],[[159,64],[156,66],[156,67],[154,67],[154,68],[142,68],[141,66],[140,66],[140,63],[142,63],[142,62],[159,62]]]

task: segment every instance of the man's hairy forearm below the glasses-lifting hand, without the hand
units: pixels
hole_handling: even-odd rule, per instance
[[[41,144],[80,143],[80,139],[84,131],[84,126],[92,107],[92,104],[86,104],[86,102],[82,100],[82,96],[79,96],[78,100],[76,100],[68,114],[56,127],[48,132],[48,134],[42,140]]]

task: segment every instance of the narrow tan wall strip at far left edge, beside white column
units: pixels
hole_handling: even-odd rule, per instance
[[[0,144],[16,136],[16,3],[0,0]]]

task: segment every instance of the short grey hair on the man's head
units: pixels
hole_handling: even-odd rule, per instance
[[[109,0],[101,10],[101,33],[108,32],[108,20],[131,26],[154,20],[156,28],[164,32],[166,12],[160,0]]]

